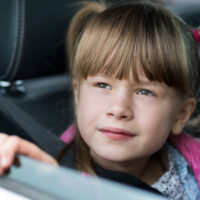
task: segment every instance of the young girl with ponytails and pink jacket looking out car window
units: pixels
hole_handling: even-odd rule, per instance
[[[87,3],[72,20],[68,46],[76,115],[68,132],[75,139],[64,150],[70,163],[121,182],[136,177],[171,199],[200,199],[199,143],[182,133],[200,85],[190,28],[150,3]],[[1,174],[17,153],[58,165],[34,144],[1,134]]]

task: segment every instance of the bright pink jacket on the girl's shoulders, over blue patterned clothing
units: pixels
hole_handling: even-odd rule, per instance
[[[72,124],[69,128],[61,135],[60,139],[69,143],[73,140],[76,133],[76,126]],[[177,136],[169,137],[170,143],[175,146],[178,151],[185,157],[190,164],[193,173],[198,181],[200,189],[200,141],[193,137],[182,133]]]

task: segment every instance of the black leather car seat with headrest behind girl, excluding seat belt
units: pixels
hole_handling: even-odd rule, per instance
[[[73,120],[64,43],[74,3],[0,1],[0,95],[57,135]]]

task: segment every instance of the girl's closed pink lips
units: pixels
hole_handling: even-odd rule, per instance
[[[128,140],[135,136],[135,134],[121,128],[105,127],[100,128],[99,131],[112,140]]]

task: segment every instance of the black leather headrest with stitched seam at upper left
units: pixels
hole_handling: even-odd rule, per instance
[[[0,80],[64,72],[65,34],[74,11],[66,0],[0,1]]]

